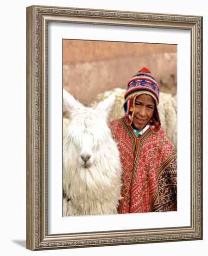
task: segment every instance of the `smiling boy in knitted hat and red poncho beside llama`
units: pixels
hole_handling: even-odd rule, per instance
[[[125,116],[109,123],[123,169],[119,213],[174,211],[176,153],[161,129],[159,86],[149,69],[131,78],[124,97]]]

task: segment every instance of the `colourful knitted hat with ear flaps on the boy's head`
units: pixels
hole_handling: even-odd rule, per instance
[[[155,81],[151,75],[150,70],[146,67],[140,69],[127,84],[126,93],[124,95],[124,111],[126,116],[126,123],[128,125],[132,124],[134,114],[134,101],[140,94],[149,94],[155,101],[155,110],[152,116],[152,120],[150,121],[150,128],[152,131],[157,132],[161,127],[158,113],[159,86],[157,81]]]

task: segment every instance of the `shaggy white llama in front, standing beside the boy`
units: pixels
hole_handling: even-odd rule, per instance
[[[63,90],[63,101],[71,120],[63,138],[63,215],[116,214],[122,168],[107,126],[115,95],[87,108]]]

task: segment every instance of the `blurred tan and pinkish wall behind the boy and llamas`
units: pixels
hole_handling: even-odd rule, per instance
[[[176,95],[176,61],[176,45],[63,40],[63,88],[87,105],[147,67],[161,91]]]

